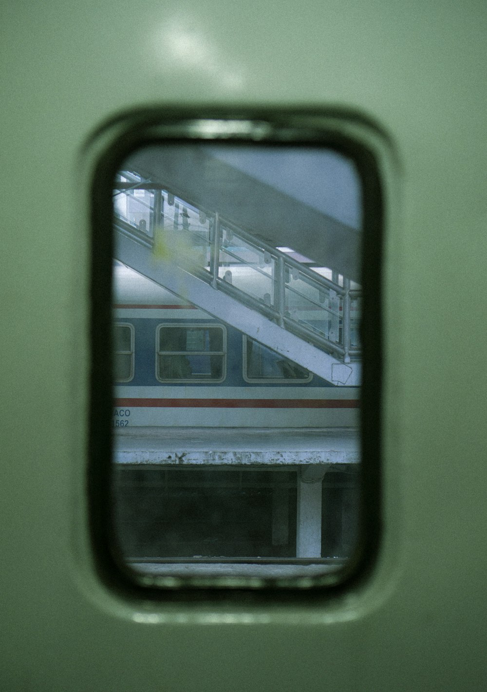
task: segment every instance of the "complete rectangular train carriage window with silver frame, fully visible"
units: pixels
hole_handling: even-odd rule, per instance
[[[159,325],[160,382],[222,382],[226,373],[226,329],[221,325]]]

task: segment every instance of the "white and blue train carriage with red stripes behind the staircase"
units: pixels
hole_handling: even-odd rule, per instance
[[[116,264],[113,322],[131,337],[122,377],[115,381],[113,426],[211,426],[245,428],[354,428],[358,387],[339,387],[319,376],[276,367],[283,359],[268,349],[259,372],[250,371],[246,337],[131,269]],[[216,376],[158,370],[158,334],[165,327],[185,332],[219,329],[223,354]],[[187,356],[195,358],[190,352]],[[166,356],[166,358],[185,356]],[[205,356],[202,356],[205,359]],[[206,358],[208,361],[208,358]],[[204,370],[204,363],[201,366]],[[129,369],[128,369],[129,368]],[[252,376],[253,375],[253,376]],[[301,375],[301,376],[300,376]]]

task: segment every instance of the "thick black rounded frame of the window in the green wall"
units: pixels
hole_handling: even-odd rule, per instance
[[[369,324],[362,333],[362,347],[368,353],[362,373],[361,449],[362,503],[360,550],[347,568],[333,576],[313,579],[313,583],[279,583],[272,579],[251,583],[219,583],[212,579],[183,580],[167,585],[135,579],[124,570],[111,549],[111,511],[106,502],[110,492],[111,448],[111,190],[113,176],[122,161],[145,145],[201,141],[228,141],[232,145],[303,145],[328,147],[349,156],[356,164],[362,184],[364,239],[362,245],[362,286],[364,314]],[[88,448],[88,525],[100,579],[119,592],[146,602],[147,598],[166,603],[191,603],[205,599],[214,603],[234,603],[239,592],[249,602],[316,605],[349,591],[373,572],[382,529],[381,520],[381,394],[382,394],[382,282],[384,190],[392,185],[385,177],[394,164],[394,147],[377,123],[362,113],[346,108],[296,109],[285,107],[174,107],[137,109],[116,116],[95,131],[86,143],[91,157],[88,172],[91,189],[91,383]],[[367,271],[365,271],[365,269]],[[366,278],[367,276],[367,278]],[[368,294],[368,295],[367,295]],[[365,396],[363,395],[366,390]],[[367,435],[364,434],[367,430]],[[363,473],[367,471],[367,473]],[[202,595],[202,591],[204,595]],[[318,601],[317,601],[318,599]]]

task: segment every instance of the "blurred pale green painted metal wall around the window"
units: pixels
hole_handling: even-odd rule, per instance
[[[484,3],[1,15],[1,689],[484,689]],[[120,111],[199,102],[344,107],[390,138],[383,548],[306,612],[134,605],[91,565],[84,144]]]

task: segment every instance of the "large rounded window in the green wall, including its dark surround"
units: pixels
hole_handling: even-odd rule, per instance
[[[374,155],[336,117],[151,118],[102,156],[93,215],[99,555],[158,594],[342,583],[378,534]]]

